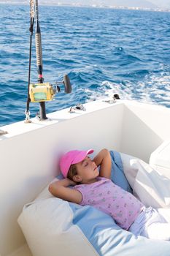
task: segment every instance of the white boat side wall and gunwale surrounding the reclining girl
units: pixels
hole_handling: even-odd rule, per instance
[[[150,154],[170,139],[170,110],[155,105],[104,99],[47,114],[50,121],[32,118],[1,127],[0,137],[0,256],[31,256],[17,219],[58,174],[54,155],[75,148],[115,149],[149,162]],[[58,166],[56,160],[55,166]],[[40,255],[39,255],[40,256]]]

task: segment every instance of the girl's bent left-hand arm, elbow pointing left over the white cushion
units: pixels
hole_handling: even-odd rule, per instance
[[[82,194],[77,189],[70,189],[69,186],[76,185],[69,178],[63,178],[61,181],[55,181],[49,186],[49,191],[55,197],[67,200],[72,203],[81,203]]]

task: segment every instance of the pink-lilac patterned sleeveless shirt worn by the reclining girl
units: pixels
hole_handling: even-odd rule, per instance
[[[94,206],[109,214],[125,230],[132,225],[144,206],[134,195],[115,185],[108,178],[98,177],[92,184],[74,188],[82,194],[81,206]]]

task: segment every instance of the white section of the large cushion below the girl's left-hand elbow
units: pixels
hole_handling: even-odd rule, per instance
[[[34,256],[98,255],[72,219],[69,203],[53,197],[47,186],[23,207],[18,223]]]

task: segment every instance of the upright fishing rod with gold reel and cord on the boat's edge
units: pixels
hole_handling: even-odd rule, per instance
[[[44,83],[43,77],[43,63],[42,63],[42,38],[41,29],[39,24],[39,4],[38,0],[30,0],[30,16],[31,16],[31,26],[30,26],[30,53],[29,53],[29,70],[28,70],[28,99],[26,105],[26,123],[30,121],[29,103],[39,102],[39,113],[36,117],[39,121],[44,121],[47,119],[45,102],[53,100],[54,95],[61,91],[58,84],[63,84],[65,86],[65,93],[69,94],[72,92],[72,86],[68,75],[63,75],[63,80],[61,82],[55,82],[56,86],[51,83]],[[34,16],[36,20],[36,33],[35,33],[35,45],[36,45],[36,69],[38,73],[38,83],[30,83],[31,77],[31,46],[32,46],[32,35],[34,30]]]

